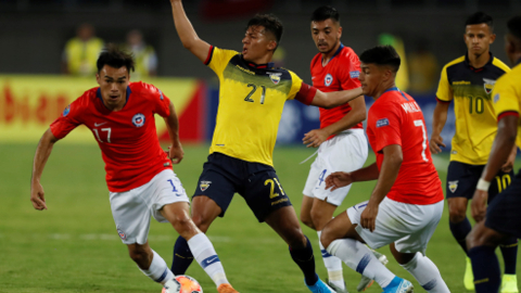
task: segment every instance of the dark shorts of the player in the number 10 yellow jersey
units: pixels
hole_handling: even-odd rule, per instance
[[[472,200],[484,168],[485,165],[470,165],[452,161],[447,171],[447,199],[467,198]],[[511,183],[513,176],[513,170],[510,170],[510,173],[499,170],[497,176],[491,181],[488,202]]]

